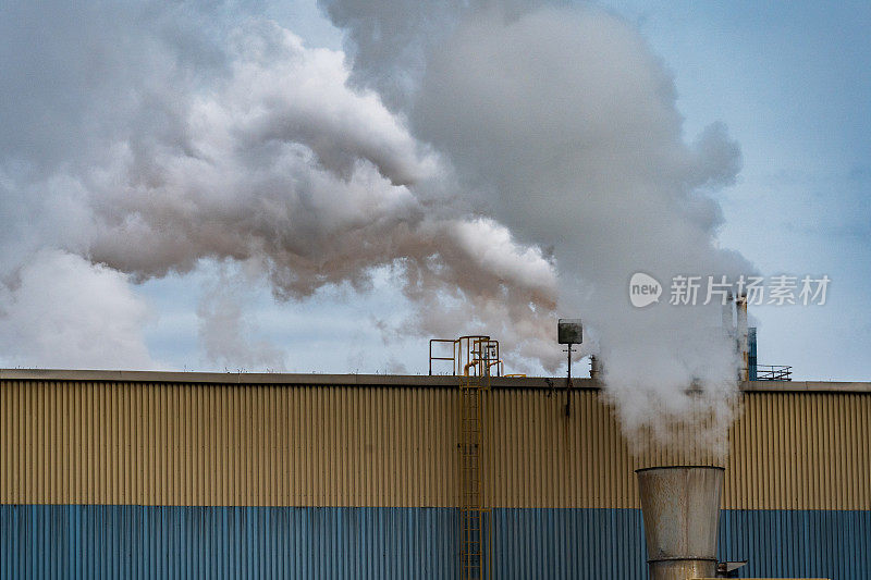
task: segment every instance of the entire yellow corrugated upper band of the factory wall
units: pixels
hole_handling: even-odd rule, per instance
[[[4,504],[451,506],[458,392],[444,387],[0,382]],[[484,395],[486,502],[638,507],[596,391]],[[746,393],[724,507],[871,509],[871,394]]]

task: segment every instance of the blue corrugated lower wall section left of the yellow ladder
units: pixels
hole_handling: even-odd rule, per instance
[[[0,506],[0,579],[455,578],[456,510]]]

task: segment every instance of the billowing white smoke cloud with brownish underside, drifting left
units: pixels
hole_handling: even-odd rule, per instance
[[[0,158],[8,287],[44,247],[136,281],[245,261],[287,300],[331,284],[365,292],[389,268],[417,313],[385,335],[498,329],[522,357],[544,351],[551,261],[476,215],[404,118],[349,87],[341,52],[307,48],[245,5],[52,16],[15,4],[3,20],[4,70],[19,72],[4,123],[27,136],[4,140]],[[46,45],[24,50],[33,35]],[[237,297],[204,293],[204,350],[220,365],[279,366],[255,356],[265,345],[228,342],[246,328],[229,313]],[[514,330],[530,320],[538,333]]]

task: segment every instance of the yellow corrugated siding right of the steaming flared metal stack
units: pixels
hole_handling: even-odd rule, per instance
[[[726,507],[871,509],[871,395],[748,393]]]

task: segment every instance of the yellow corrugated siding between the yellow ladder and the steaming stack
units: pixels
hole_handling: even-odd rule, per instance
[[[493,506],[640,507],[635,469],[721,465],[697,448],[633,455],[596,391],[492,391],[484,403],[483,485]],[[688,439],[691,434],[683,434]]]

